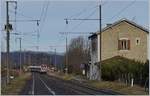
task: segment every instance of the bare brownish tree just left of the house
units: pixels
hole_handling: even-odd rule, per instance
[[[81,64],[88,64],[90,59],[88,39],[79,36],[71,40],[68,46],[69,72],[81,73]]]

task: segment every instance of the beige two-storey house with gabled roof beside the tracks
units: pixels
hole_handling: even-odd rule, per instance
[[[114,56],[122,56],[143,63],[148,60],[149,31],[135,22],[122,19],[108,24],[102,29],[101,35],[101,44],[99,44],[99,32],[89,37],[91,40],[91,76],[94,76],[93,66],[99,62],[100,48],[102,60]]]

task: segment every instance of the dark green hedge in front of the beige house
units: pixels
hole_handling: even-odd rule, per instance
[[[131,82],[134,78],[136,84],[144,85],[149,77],[149,62],[145,64],[116,56],[102,62],[102,79],[122,82]]]

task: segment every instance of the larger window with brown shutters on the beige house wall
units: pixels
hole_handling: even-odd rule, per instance
[[[118,50],[130,50],[130,40],[128,39],[118,40]]]

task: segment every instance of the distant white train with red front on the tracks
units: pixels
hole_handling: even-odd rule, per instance
[[[29,71],[31,72],[39,72],[39,73],[47,73],[47,65],[42,64],[40,66],[29,66],[28,67]]]

